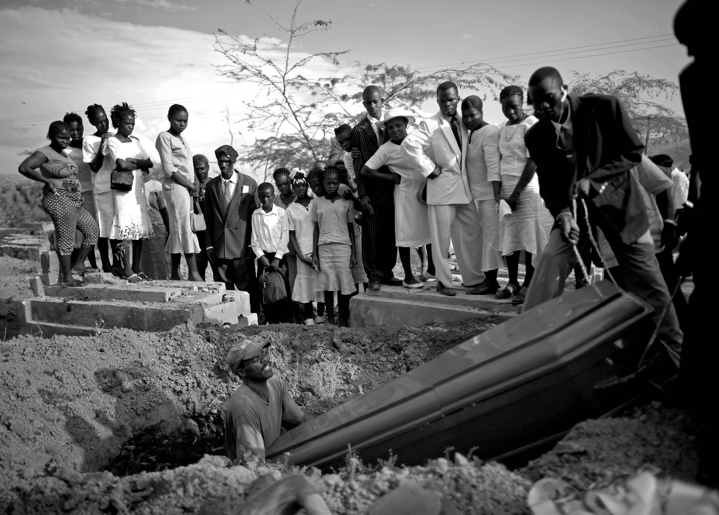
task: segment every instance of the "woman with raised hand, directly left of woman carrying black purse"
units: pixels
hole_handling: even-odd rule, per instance
[[[105,141],[112,136],[109,132],[110,119],[99,103],[93,103],[85,111],[88,121],[95,127],[94,134],[83,137],[83,161],[90,166],[93,173],[92,195],[94,200],[93,216],[98,223],[100,236],[97,239],[97,249],[100,251],[103,272],[112,272],[121,268],[119,257],[115,256],[110,264],[108,238],[112,232],[115,219],[115,198],[110,189],[110,174],[112,163],[110,157],[101,152]]]

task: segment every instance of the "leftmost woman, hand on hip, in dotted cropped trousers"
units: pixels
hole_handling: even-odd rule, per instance
[[[42,209],[55,224],[60,284],[82,286],[81,281],[73,279],[73,274],[83,274],[85,271],[85,259],[97,243],[97,224],[82,207],[78,167],[65,153],[70,144],[70,127],[64,121],[53,121],[47,131],[47,139],[50,144],[33,152],[20,164],[18,171],[28,179],[45,184],[42,188]],[[38,168],[39,173],[36,171]],[[72,266],[75,228],[83,233],[83,243]]]

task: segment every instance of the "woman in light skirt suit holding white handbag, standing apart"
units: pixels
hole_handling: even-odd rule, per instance
[[[195,258],[195,254],[201,250],[200,243],[192,230],[191,221],[193,199],[200,194],[200,187],[192,164],[192,151],[182,136],[187,129],[188,118],[186,108],[178,103],[170,106],[170,129],[157,135],[155,148],[160,154],[162,172],[165,173],[162,195],[165,195],[165,204],[170,215],[170,235],[165,246],[165,252],[170,253],[172,258],[173,270],[170,279],[180,280],[180,256],[185,254],[188,280],[202,282]]]

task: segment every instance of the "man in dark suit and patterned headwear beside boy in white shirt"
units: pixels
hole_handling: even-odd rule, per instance
[[[234,170],[237,151],[229,145],[215,150],[219,177],[205,188],[207,259],[217,270],[216,280],[227,289],[249,293],[250,310],[260,312],[260,289],[255,254],[249,250],[252,213],[260,205],[257,182]]]

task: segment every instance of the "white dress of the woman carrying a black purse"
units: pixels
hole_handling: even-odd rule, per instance
[[[130,136],[130,141],[124,143],[115,136],[107,139],[106,154],[110,162],[116,159],[149,159],[150,154],[142,148],[139,139]],[[132,171],[132,190],[112,190],[115,199],[115,219],[111,239],[139,240],[153,236],[152,221],[147,213],[147,198],[145,197],[145,181],[142,170]]]

